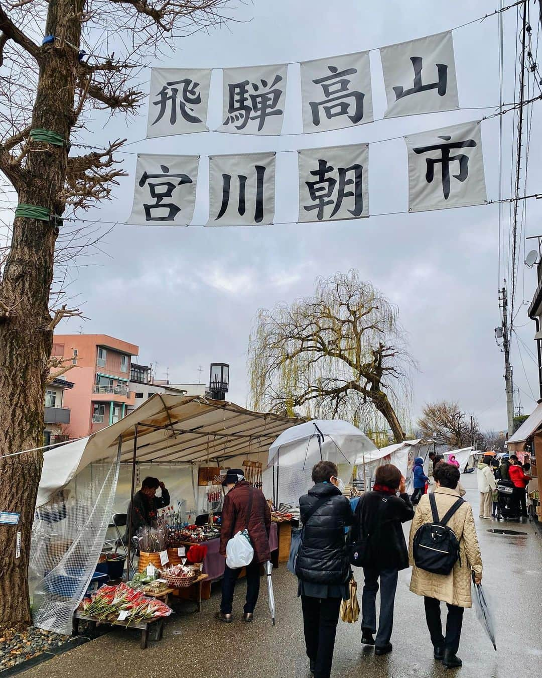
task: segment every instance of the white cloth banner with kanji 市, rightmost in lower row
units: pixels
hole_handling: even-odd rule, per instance
[[[405,136],[409,212],[487,202],[480,121]]]

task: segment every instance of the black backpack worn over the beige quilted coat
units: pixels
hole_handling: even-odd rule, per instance
[[[434,494],[430,492],[428,496],[433,522],[421,525],[414,535],[414,562],[416,567],[421,570],[433,574],[450,574],[458,559],[459,566],[461,566],[461,558],[459,557],[459,541],[455,532],[451,527],[447,527],[446,523],[459,509],[459,506],[464,503],[464,500],[459,498],[449,508],[442,520],[439,520]]]

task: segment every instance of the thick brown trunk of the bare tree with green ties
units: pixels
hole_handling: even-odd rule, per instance
[[[49,0],[45,35],[62,35],[79,45],[77,18],[84,0]],[[74,122],[77,49],[41,47],[39,82],[32,127],[70,138]],[[27,181],[16,186],[20,203],[64,212],[62,189],[68,149],[33,142],[43,151],[31,152]],[[9,315],[0,316],[0,454],[40,447],[43,443],[43,405],[52,330],[48,300],[53,279],[53,255],[58,225],[31,218],[14,220],[12,246],[0,283],[0,301]],[[43,454],[31,452],[0,458],[0,510],[20,513],[16,527],[0,527],[0,629],[30,623],[28,556]],[[21,552],[16,559],[16,533]]]

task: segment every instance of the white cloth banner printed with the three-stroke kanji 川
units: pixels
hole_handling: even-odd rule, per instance
[[[274,211],[274,153],[209,157],[207,226],[264,226]]]

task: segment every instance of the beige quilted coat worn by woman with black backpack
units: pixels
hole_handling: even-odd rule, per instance
[[[442,518],[451,505],[457,501],[459,492],[451,490],[449,487],[437,487],[434,497],[438,515]],[[471,572],[474,570],[477,574],[482,574],[482,556],[480,555],[480,546],[478,546],[476,527],[474,527],[472,508],[470,504],[465,502],[448,522],[449,527],[452,528],[459,540],[461,559],[461,565],[458,560],[450,574],[433,574],[419,569],[414,564],[412,553],[414,535],[420,525],[430,523],[432,519],[429,497],[425,494],[419,501],[411,525],[409,540],[409,560],[412,565],[411,591],[417,593],[417,595],[436,598],[458,607],[472,607],[470,595]]]

